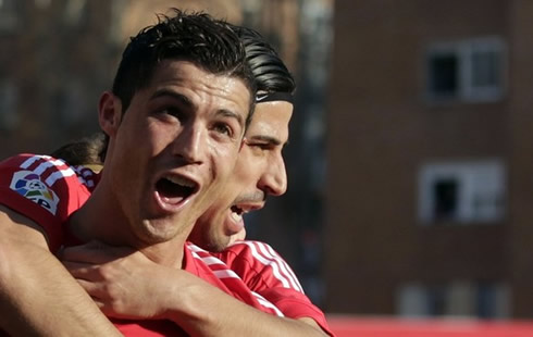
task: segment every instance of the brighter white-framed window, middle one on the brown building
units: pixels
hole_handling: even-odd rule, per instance
[[[419,173],[419,219],[423,224],[500,221],[505,189],[505,167],[497,160],[425,164]]]

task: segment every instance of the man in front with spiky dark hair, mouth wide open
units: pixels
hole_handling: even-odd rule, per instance
[[[80,287],[99,271],[71,260],[71,267],[78,264],[75,279],[55,257],[61,248],[95,240],[129,247],[181,273],[176,289],[184,291],[176,294],[184,295],[188,313],[196,304],[186,294],[198,282],[210,285],[210,294],[237,297],[243,308],[278,313],[239,278],[220,279],[185,245],[233,173],[253,92],[237,35],[209,15],[176,10],[133,38],[98,107],[109,137],[101,174],[76,172],[47,155],[0,163],[0,327],[24,336],[209,335],[190,324],[196,317],[171,310],[149,320],[103,315],[106,291],[89,296]]]

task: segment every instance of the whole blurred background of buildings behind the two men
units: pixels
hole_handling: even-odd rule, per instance
[[[284,197],[247,219],[329,315],[533,319],[533,1],[0,0],[0,155],[98,129],[170,7],[256,28],[298,89]]]

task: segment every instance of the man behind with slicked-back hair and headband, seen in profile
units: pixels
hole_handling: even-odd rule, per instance
[[[227,304],[227,301],[223,297],[204,289],[202,295],[210,294],[211,300],[202,309],[197,309],[206,312],[210,320],[203,320],[199,324],[204,330],[209,330],[208,326],[213,326],[213,334],[222,334],[219,327],[223,325],[228,335],[319,336],[322,330],[333,335],[324,314],[305,296],[292,269],[269,245],[258,241],[237,241],[231,245],[245,236],[244,213],[262,209],[266,196],[281,196],[286,191],[287,177],[282,150],[288,140],[295,89],[294,79],[275,50],[255,30],[243,27],[235,29],[245,43],[247,60],[258,85],[257,107],[232,178],[214,203],[196,222],[189,236],[189,240],[202,249],[191,244],[189,247],[206,260],[213,255],[206,250],[219,252],[214,255],[237,273],[252,291],[275,304],[286,317],[298,322],[248,314],[249,311],[240,311],[238,305],[225,307],[222,303]],[[54,155],[75,164],[100,163],[98,158],[80,158],[76,153],[70,153],[70,148],[79,146],[83,149],[88,147],[83,146],[83,142],[74,143],[54,152]],[[86,150],[82,153],[84,152]],[[120,259],[120,262],[108,262],[114,253],[124,254],[122,248],[107,247],[107,257],[99,253],[101,258],[95,259],[94,249],[101,249],[101,246],[69,248],[64,259],[85,261],[95,269],[100,269],[101,263],[102,271],[106,271],[101,274],[113,275],[89,277],[90,282],[84,279],[87,291],[92,296],[97,295],[95,289],[123,289],[114,294],[106,292],[102,308],[110,314],[145,316],[163,310],[177,310],[175,305],[181,303],[179,296],[174,300],[172,298],[175,295],[173,289],[181,283],[181,275],[175,275],[175,271],[158,267],[140,254],[131,254]],[[65,265],[70,267],[69,261]],[[219,267],[218,264],[210,265]],[[75,276],[79,274],[76,266],[70,270]],[[226,283],[235,279],[234,274],[221,273],[220,270],[218,276]],[[156,283],[158,286],[153,287]],[[116,302],[122,304],[113,305]],[[198,303],[197,307],[201,307],[204,301],[200,297],[195,302]],[[249,324],[250,321],[256,324]]]

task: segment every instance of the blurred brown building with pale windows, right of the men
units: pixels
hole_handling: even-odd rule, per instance
[[[335,1],[326,310],[533,317],[533,2]]]

